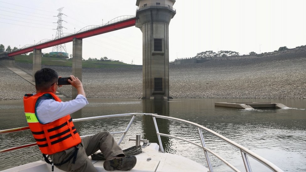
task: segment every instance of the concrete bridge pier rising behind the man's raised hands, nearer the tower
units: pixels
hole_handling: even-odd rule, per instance
[[[72,41],[72,75],[82,81],[82,39]],[[77,89],[72,87],[72,99],[77,97]]]

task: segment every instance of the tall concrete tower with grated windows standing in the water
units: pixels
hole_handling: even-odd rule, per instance
[[[169,23],[175,0],[137,0],[136,27],[142,32],[142,99],[169,96]]]

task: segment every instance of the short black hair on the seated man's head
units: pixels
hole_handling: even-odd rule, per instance
[[[35,72],[34,78],[36,90],[46,91],[57,82],[58,74],[53,69],[43,68]]]

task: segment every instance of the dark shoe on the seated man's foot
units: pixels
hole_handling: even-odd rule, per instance
[[[114,159],[104,161],[103,167],[107,171],[128,171],[136,165],[136,161],[137,159],[135,156],[116,157]]]

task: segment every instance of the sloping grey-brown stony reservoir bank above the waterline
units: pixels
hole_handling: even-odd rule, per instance
[[[32,64],[16,63],[32,74]],[[237,56],[203,63],[170,65],[170,96],[179,98],[306,98],[306,50],[277,55]],[[72,67],[47,66],[60,76]],[[33,85],[0,66],[0,100],[22,99],[35,92]],[[142,67],[83,68],[82,82],[88,98],[139,98],[142,96]],[[71,87],[58,89],[71,97]]]

